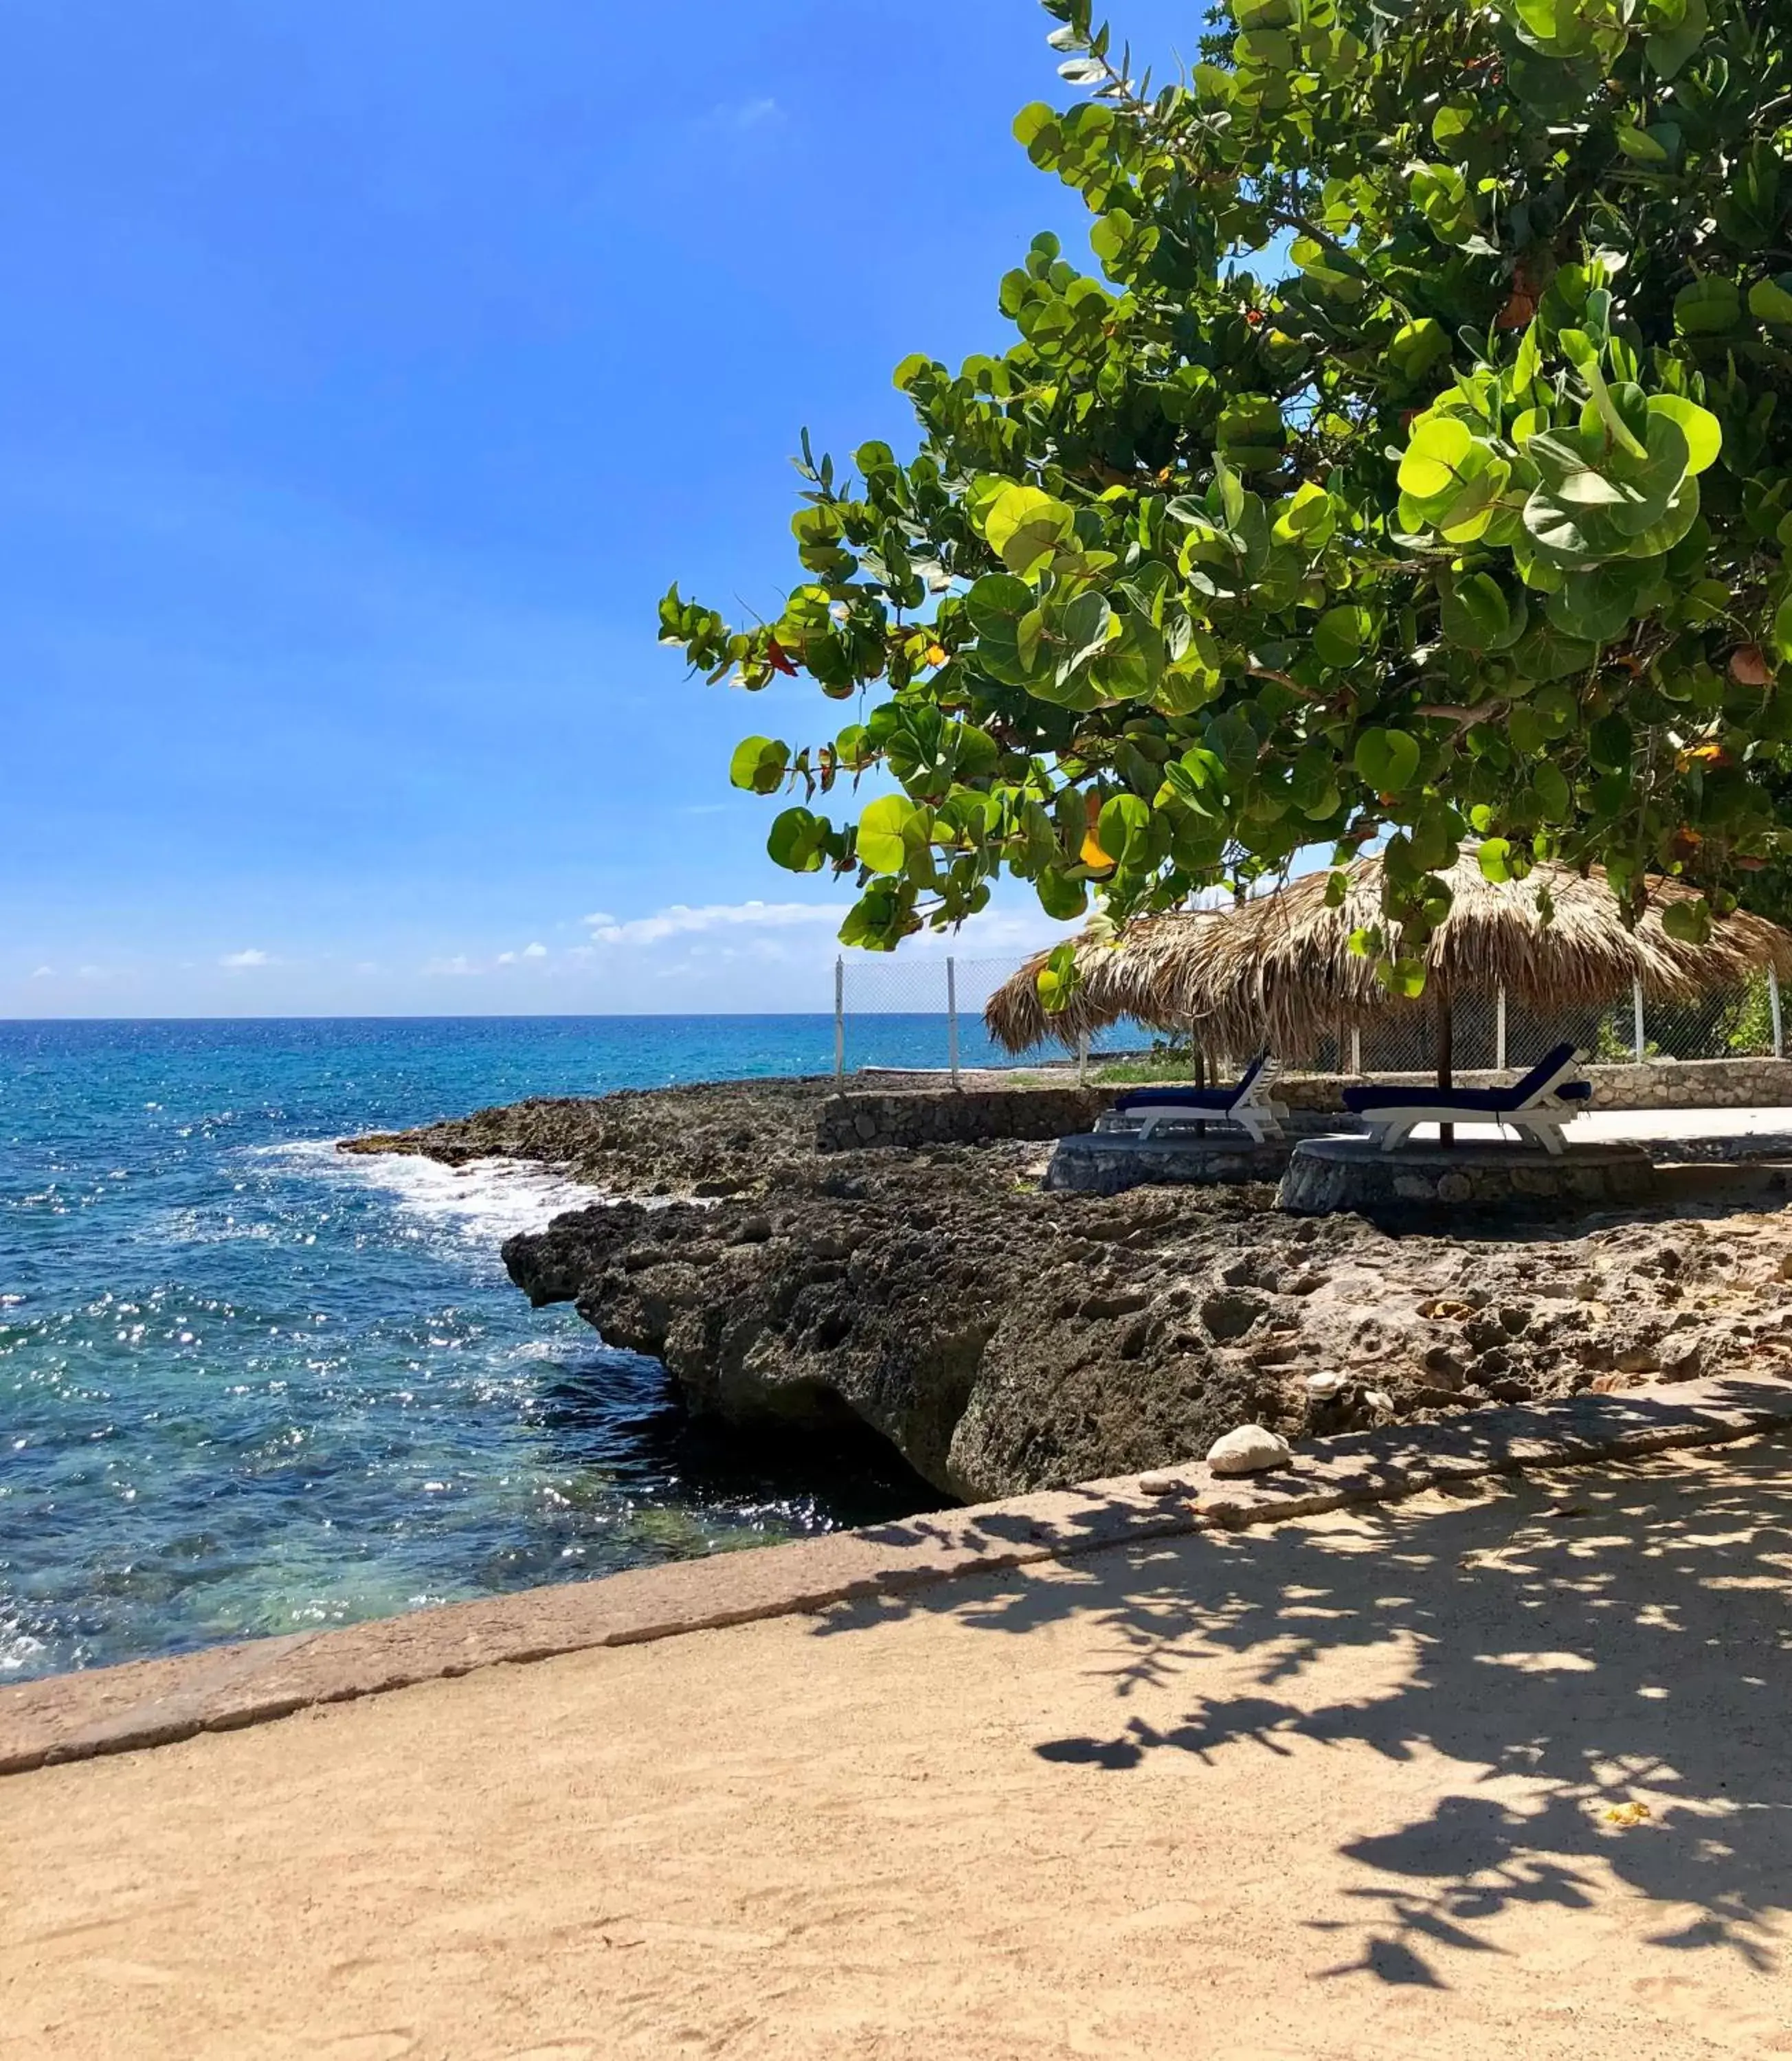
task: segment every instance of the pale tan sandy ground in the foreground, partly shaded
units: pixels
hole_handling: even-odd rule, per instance
[[[1763,1441],[12,1777],[0,2055],[1792,2053],[1788,1525]]]

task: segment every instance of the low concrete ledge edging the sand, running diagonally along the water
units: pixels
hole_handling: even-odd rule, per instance
[[[961,1575],[1204,1525],[1274,1523],[1349,1502],[1386,1502],[1439,1482],[1716,1445],[1776,1426],[1792,1426],[1788,1383],[1712,1379],[1578,1395],[1547,1408],[1481,1410],[1332,1439],[1305,1447],[1293,1467],[1250,1482],[1217,1480],[1204,1463],[1192,1463],[1161,1469],[1173,1482],[1163,1494],[1147,1494],[1140,1476],[1126,1476],[342,1630],[52,1676],[0,1690],[0,1775],[262,1725],[474,1667],[899,1597]],[[1159,1476],[1144,1480],[1163,1486]]]

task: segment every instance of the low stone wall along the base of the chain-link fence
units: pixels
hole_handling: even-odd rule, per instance
[[[1518,1080],[1462,1072],[1458,1086],[1491,1088]],[[1594,1109],[1792,1109],[1792,1059],[1652,1059],[1644,1066],[1590,1066]],[[1295,1074],[1276,1084],[1289,1109],[1338,1111],[1355,1076]],[[1429,1074],[1375,1074],[1390,1086],[1427,1086]],[[984,1076],[988,1082],[988,1076]],[[874,1088],[833,1094],[815,1123],[819,1152],[866,1146],[953,1146],[988,1138],[1068,1138],[1087,1131],[1124,1090],[1076,1086]]]

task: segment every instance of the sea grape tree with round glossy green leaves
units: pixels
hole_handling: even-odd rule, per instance
[[[1792,849],[1792,0],[1233,0],[1163,87],[1046,10],[1101,276],[1039,237],[1004,354],[903,363],[911,458],[804,439],[775,622],[662,604],[854,705],[736,752],[771,855],[881,948],[1367,839],[1406,950],[1464,839],[1697,932]]]

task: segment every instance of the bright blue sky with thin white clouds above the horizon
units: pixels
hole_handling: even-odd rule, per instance
[[[0,1014],[825,1006],[726,763],[837,711],[654,610],[773,608],[798,429],[901,449],[1081,235],[1033,0],[6,16]]]

